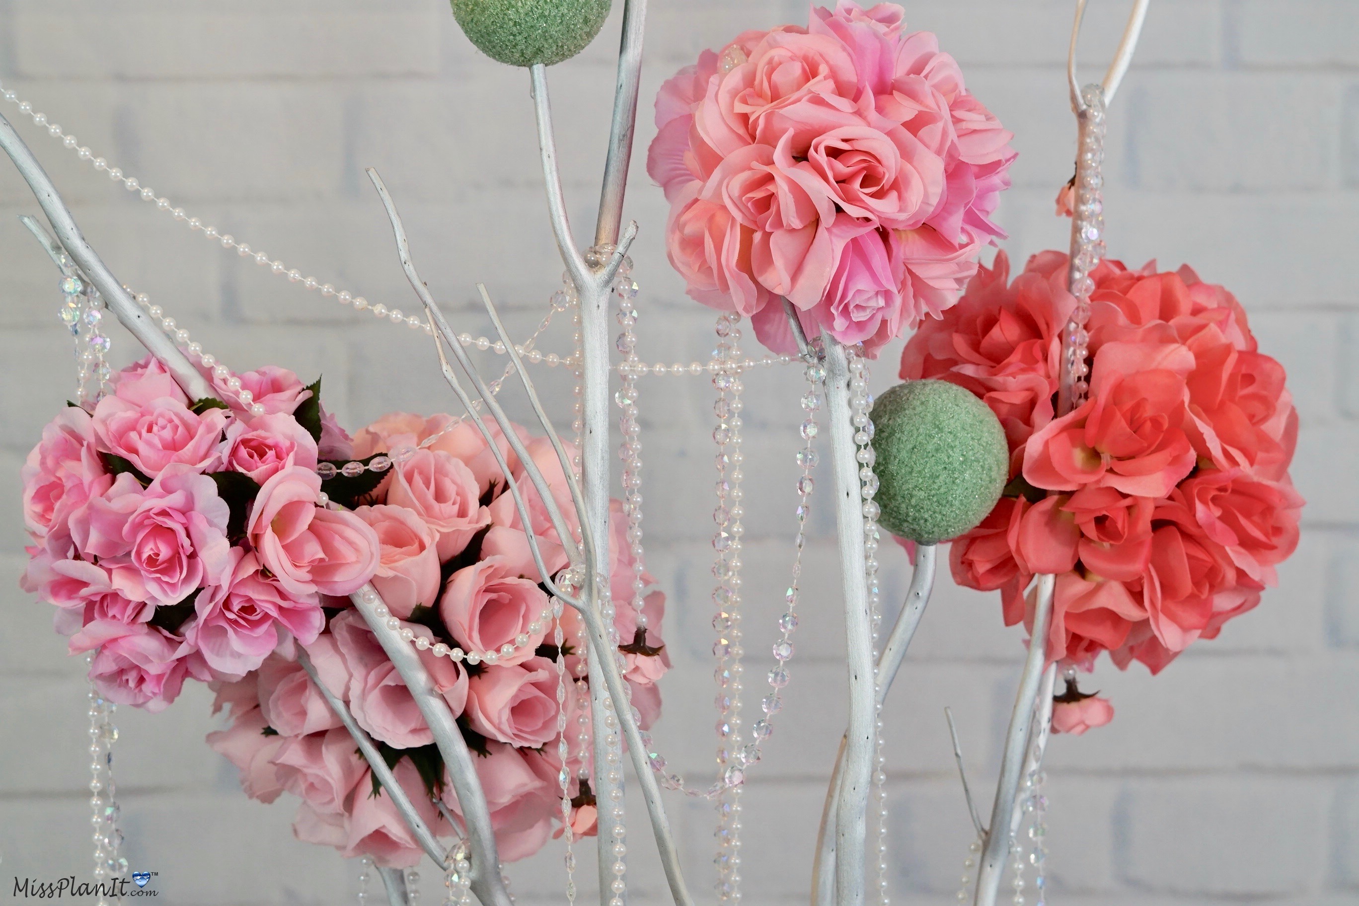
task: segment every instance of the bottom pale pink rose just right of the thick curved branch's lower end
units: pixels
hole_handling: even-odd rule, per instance
[[[556,769],[548,765],[542,753],[520,751],[497,742],[488,742],[487,757],[473,762],[491,810],[500,858],[518,861],[533,856],[548,842],[553,814],[560,814]],[[553,774],[552,781],[546,774]],[[444,784],[443,803],[462,818],[453,784]]]

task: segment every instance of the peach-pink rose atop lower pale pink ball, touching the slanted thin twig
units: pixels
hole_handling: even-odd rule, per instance
[[[439,560],[462,553],[491,524],[472,469],[442,450],[419,450],[391,470],[387,503],[414,512],[438,537]],[[398,614],[401,615],[401,614]]]

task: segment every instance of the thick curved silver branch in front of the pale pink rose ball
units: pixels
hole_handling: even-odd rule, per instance
[[[410,642],[401,638],[397,629],[389,621],[394,617],[379,617],[376,609],[382,606],[382,596],[372,585],[364,585],[349,600],[359,610],[368,629],[378,637],[378,644],[386,652],[401,679],[410,690],[420,714],[434,733],[434,742],[443,755],[444,767],[448,770],[448,780],[458,795],[458,805],[462,808],[462,822],[467,830],[467,844],[472,849],[472,892],[477,895],[482,906],[511,906],[510,892],[504,887],[500,876],[500,857],[496,853],[496,834],[491,825],[491,810],[487,805],[487,796],[481,789],[481,780],[477,777],[476,763],[472,761],[472,751],[462,738],[453,712],[435,691],[429,671],[425,670],[420,655]],[[397,621],[400,623],[400,621]],[[436,860],[443,864],[442,856]]]

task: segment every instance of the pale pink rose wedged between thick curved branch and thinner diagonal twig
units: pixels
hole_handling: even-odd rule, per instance
[[[349,672],[347,698],[355,721],[397,748],[432,743],[414,697],[363,618],[348,610],[330,621],[330,630]]]

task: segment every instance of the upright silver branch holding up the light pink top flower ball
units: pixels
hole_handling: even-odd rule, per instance
[[[840,801],[836,804],[836,902],[862,906],[867,864],[868,793],[872,785],[877,720],[872,675],[872,615],[863,537],[863,499],[858,447],[849,421],[849,357],[839,340],[822,334],[826,348],[830,455],[834,470],[836,524],[840,535],[840,581],[844,592],[849,727],[845,732]]]

